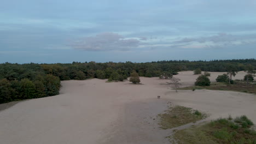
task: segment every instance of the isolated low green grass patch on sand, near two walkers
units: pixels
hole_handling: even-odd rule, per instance
[[[184,106],[170,107],[166,113],[159,114],[158,116],[161,118],[159,124],[162,129],[179,127],[207,117],[204,113],[201,113],[198,110],[194,111],[193,109]]]

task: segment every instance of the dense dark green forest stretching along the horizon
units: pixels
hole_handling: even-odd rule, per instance
[[[123,81],[136,71],[139,76],[156,77],[162,73],[178,74],[178,71],[234,71],[246,70],[251,65],[256,69],[256,59],[230,59],[214,61],[158,61],[132,62],[73,62],[56,64],[2,63],[0,64],[0,103],[14,100],[42,98],[59,94],[60,81],[108,79]]]

